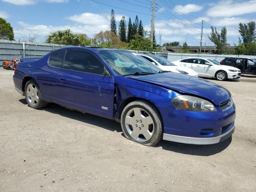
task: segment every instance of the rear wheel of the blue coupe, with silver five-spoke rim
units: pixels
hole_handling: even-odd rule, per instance
[[[25,98],[28,106],[39,109],[45,107],[48,102],[41,98],[41,92],[35,80],[29,80],[25,85]]]

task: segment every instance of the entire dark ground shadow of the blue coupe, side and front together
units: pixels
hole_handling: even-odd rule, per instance
[[[26,104],[26,99],[19,100],[22,104]],[[110,131],[122,132],[121,126],[119,123],[114,120],[102,118],[100,116],[92,114],[83,114],[76,110],[70,110],[64,108],[58,104],[50,103],[45,108],[39,109],[44,110],[50,113],[59,114],[61,116],[78,120],[84,123],[92,124]],[[124,134],[122,133],[122,136]],[[157,144],[155,147],[162,147],[163,150],[173,151],[181,154],[197,155],[197,156],[211,156],[217,154],[224,149],[226,149],[232,141],[232,137],[226,139],[225,141],[212,144],[212,145],[192,145],[192,144],[183,144],[170,141],[162,141]]]

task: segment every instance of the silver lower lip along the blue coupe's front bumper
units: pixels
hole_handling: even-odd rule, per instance
[[[210,144],[216,144],[226,140],[234,133],[234,131],[235,131],[235,125],[228,132],[217,137],[209,137],[209,138],[184,137],[184,136],[170,135],[170,134],[164,133],[163,140],[173,141],[178,143],[195,144],[195,145],[210,145]]]

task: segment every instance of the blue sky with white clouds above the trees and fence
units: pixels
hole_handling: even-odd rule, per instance
[[[150,30],[152,0],[0,0],[0,17],[14,28],[16,40],[36,36],[44,42],[55,30],[71,29],[94,37],[95,33],[110,29],[110,12],[114,9],[117,26],[122,16],[128,24],[138,15],[144,29]],[[210,26],[220,30],[227,27],[227,42],[238,43],[238,24],[256,21],[256,0],[156,0],[156,40],[213,45],[208,34]]]

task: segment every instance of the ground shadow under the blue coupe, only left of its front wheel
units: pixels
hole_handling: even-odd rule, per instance
[[[19,101],[22,104],[27,105],[26,99],[20,99]],[[50,113],[59,114],[64,117],[78,120],[80,122],[88,123],[88,124],[91,124],[94,126],[98,126],[98,127],[110,130],[110,131],[122,132],[120,124],[115,122],[114,120],[102,118],[102,117],[88,114],[88,113],[83,114],[79,111],[70,110],[70,109],[62,107],[58,104],[49,103],[46,107],[40,108],[38,110],[44,110],[44,111],[47,111]]]

